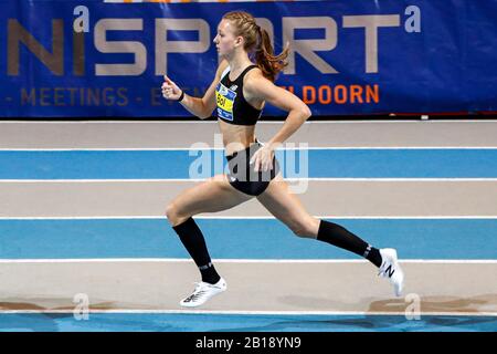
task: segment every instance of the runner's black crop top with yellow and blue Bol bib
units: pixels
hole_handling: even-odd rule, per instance
[[[234,81],[230,80],[228,67],[215,87],[218,118],[235,125],[255,125],[261,117],[262,110],[256,110],[243,97],[243,77],[257,65],[247,66]]]

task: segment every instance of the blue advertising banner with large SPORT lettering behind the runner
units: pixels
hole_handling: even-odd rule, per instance
[[[105,3],[0,0],[0,116],[178,117],[201,96],[223,13],[289,43],[276,84],[316,115],[497,111],[496,0]],[[267,106],[263,113],[284,116]]]

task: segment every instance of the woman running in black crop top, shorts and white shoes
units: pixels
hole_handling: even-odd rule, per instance
[[[296,236],[328,242],[371,261],[379,268],[379,274],[390,280],[399,296],[404,275],[396,251],[373,248],[341,226],[310,216],[279,173],[275,148],[311,115],[303,101],[274,84],[286,65],[288,48],[274,55],[267,32],[250,13],[242,11],[224,14],[213,42],[222,61],[202,98],[187,95],[167,76],[162,84],[165,98],[180,102],[200,118],[210,117],[216,108],[230,170],[229,175],[214,176],[184,190],[167,207],[169,222],[202,277],[193,293],[180,304],[199,306],[226,290],[226,282],[215,271],[192,217],[225,210],[254,197]],[[288,116],[277,134],[263,145],[254,131],[265,103],[288,112]]]

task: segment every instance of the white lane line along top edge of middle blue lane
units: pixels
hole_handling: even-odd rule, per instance
[[[496,220],[497,216],[315,216],[319,219],[343,220]],[[276,220],[274,216],[195,216],[195,219]],[[74,216],[74,217],[0,217],[1,220],[166,220],[166,216]]]

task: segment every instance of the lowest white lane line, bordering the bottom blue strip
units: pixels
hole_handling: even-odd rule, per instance
[[[405,311],[236,311],[236,310],[94,310],[89,305],[89,314],[228,314],[228,315],[398,315],[405,316]],[[36,314],[36,313],[60,313],[74,314],[74,310],[0,310],[0,314]],[[497,316],[497,312],[431,312],[421,311],[421,316]]]

